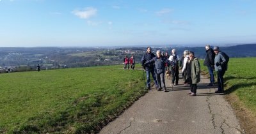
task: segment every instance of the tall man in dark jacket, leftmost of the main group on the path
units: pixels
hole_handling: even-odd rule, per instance
[[[146,70],[146,75],[147,75],[147,89],[150,89],[150,73],[152,74],[152,77],[154,78],[156,88],[158,88],[154,63],[145,64],[147,61],[150,61],[150,59],[153,59],[154,57],[156,57],[156,55],[154,55],[151,52],[151,47],[147,47],[147,52],[145,54],[143,54],[143,56],[141,57],[141,65]]]

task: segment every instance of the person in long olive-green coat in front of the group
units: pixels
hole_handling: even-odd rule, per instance
[[[191,96],[196,96],[197,83],[200,82],[200,63],[194,52],[189,52],[189,62],[187,63],[188,80],[190,84]]]

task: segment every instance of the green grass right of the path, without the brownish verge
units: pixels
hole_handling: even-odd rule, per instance
[[[203,66],[202,69],[208,71]],[[230,58],[224,75],[225,93],[235,94],[256,115],[256,57]],[[216,79],[217,80],[217,79]]]

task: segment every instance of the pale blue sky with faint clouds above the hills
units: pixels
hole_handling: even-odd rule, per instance
[[[0,0],[0,47],[256,43],[254,0]]]

